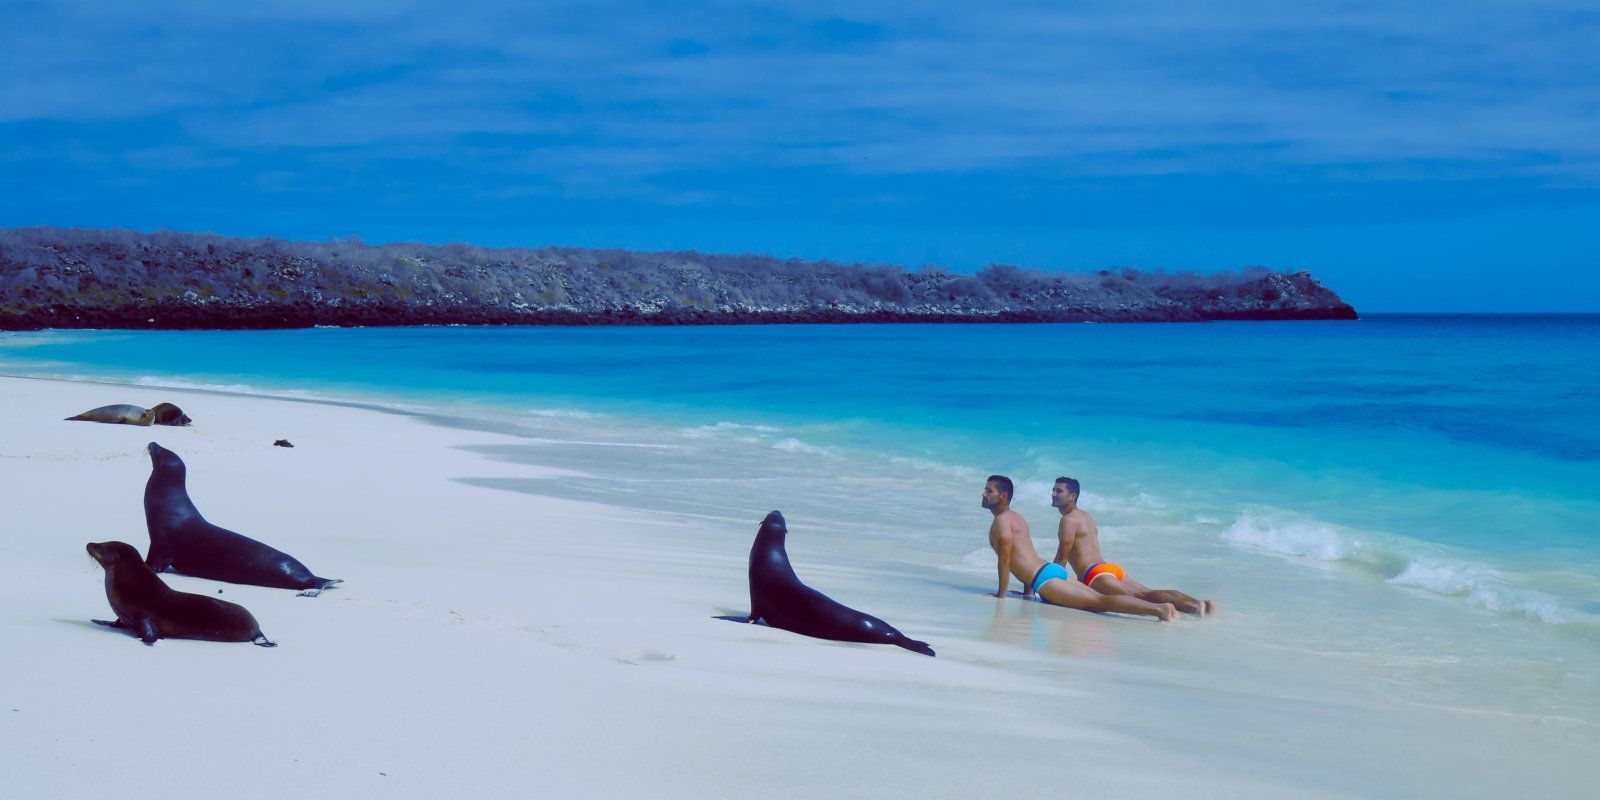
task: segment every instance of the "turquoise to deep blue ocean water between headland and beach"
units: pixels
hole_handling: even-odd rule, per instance
[[[5,374],[482,418],[533,437],[490,456],[594,475],[494,488],[752,530],[779,507],[974,590],[982,478],[1053,549],[1072,475],[1109,557],[1248,635],[1477,664],[1552,709],[1600,696],[1597,371],[1600,315],[0,334]]]

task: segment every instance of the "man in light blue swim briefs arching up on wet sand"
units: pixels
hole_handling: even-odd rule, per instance
[[[1059,606],[1154,616],[1160,621],[1171,621],[1178,616],[1178,610],[1171,603],[1149,603],[1138,597],[1096,592],[1074,582],[1059,563],[1043,560],[1038,549],[1034,547],[1027,520],[1011,510],[1011,478],[1005,475],[989,475],[989,482],[984,483],[982,506],[995,517],[994,523],[989,525],[989,546],[998,557],[1000,587],[995,590],[995,597],[1005,598],[1011,576],[1016,576],[1022,581],[1024,597],[1037,594],[1040,600]]]

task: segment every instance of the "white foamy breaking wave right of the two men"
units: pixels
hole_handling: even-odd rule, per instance
[[[1286,514],[1245,512],[1222,533],[1222,539],[1277,555],[1349,563],[1376,571],[1392,586],[1458,597],[1488,611],[1536,622],[1560,626],[1594,616],[1565,606],[1555,595],[1518,587],[1488,565],[1438,555],[1429,552],[1437,546],[1397,536],[1352,531]]]

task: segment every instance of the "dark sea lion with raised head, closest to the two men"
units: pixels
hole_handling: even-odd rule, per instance
[[[800,582],[784,549],[787,534],[789,525],[776,510],[762,520],[762,528],[755,533],[755,544],[750,546],[750,618],[746,622],[765,619],[768,626],[808,637],[898,645],[925,656],[933,654],[926,642],[909,638],[894,626]]]

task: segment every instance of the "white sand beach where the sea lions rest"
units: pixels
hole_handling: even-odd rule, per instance
[[[478,451],[526,440],[346,405],[21,378],[0,398],[5,797],[1573,797],[1600,776],[1584,718],[1397,699],[1379,667],[1237,635],[1261,611],[1226,594],[1174,624],[998,602],[790,517],[802,579],[938,658],[821,642],[714,619],[747,610],[763,498],[722,509],[738,525],[558,499],[566,467]],[[195,424],[62,421],[157,402]],[[344,579],[163,576],[245,605],[275,650],[90,622],[110,610],[83,544],[147,547],[152,440],[210,522]]]

